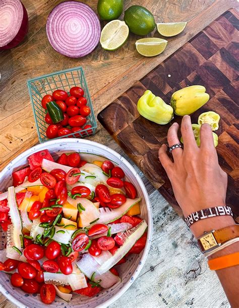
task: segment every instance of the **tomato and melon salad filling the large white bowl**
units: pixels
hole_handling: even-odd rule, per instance
[[[0,225],[7,233],[0,276],[9,275],[10,288],[42,304],[80,297],[96,306],[108,292],[115,300],[137,276],[149,249],[150,206],[120,155],[71,140],[38,145],[2,172]]]

